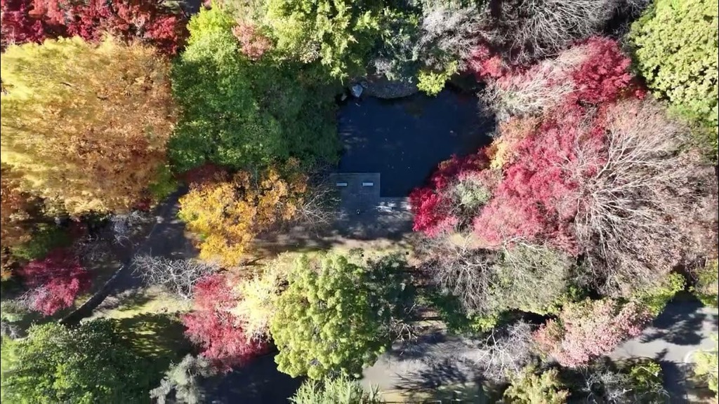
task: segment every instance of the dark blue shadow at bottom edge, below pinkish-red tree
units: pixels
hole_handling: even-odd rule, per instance
[[[288,403],[302,382],[280,372],[275,355],[269,354],[208,380],[206,403]]]

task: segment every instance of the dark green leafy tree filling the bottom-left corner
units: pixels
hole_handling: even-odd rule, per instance
[[[146,364],[107,320],[33,326],[4,340],[2,357],[3,403],[137,403],[150,390]]]

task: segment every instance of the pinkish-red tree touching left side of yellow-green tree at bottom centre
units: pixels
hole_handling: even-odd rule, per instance
[[[240,319],[229,312],[234,306],[237,295],[226,275],[209,275],[195,285],[193,311],[183,317],[188,338],[202,346],[203,356],[225,372],[267,349],[265,343],[244,333]]]

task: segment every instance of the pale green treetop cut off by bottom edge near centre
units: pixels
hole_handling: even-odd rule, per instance
[[[377,389],[365,390],[357,380],[347,376],[326,379],[322,382],[307,380],[290,398],[293,404],[380,404]]]

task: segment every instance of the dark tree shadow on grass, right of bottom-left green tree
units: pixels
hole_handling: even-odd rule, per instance
[[[171,363],[192,352],[184,336],[185,326],[177,316],[145,313],[113,321],[134,352],[147,359],[147,375],[154,384],[159,384]]]

